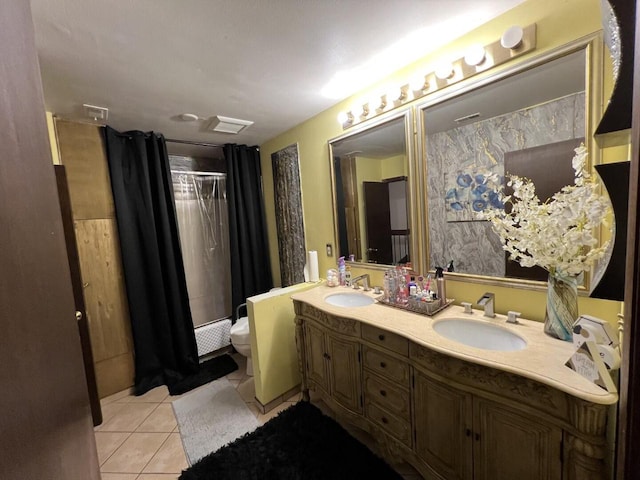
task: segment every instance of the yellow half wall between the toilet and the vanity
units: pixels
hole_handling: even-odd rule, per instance
[[[315,286],[300,283],[247,298],[253,380],[262,405],[300,384],[291,295]]]

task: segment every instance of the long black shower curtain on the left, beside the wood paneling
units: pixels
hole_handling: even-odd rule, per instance
[[[198,351],[164,137],[105,136],[141,395],[197,372]]]

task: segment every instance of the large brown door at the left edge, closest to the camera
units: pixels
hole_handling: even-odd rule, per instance
[[[0,45],[0,477],[99,480],[29,2]]]

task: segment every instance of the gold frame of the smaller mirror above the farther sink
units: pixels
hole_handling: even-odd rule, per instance
[[[336,192],[336,175],[335,168],[333,162],[333,143],[338,142],[340,140],[344,140],[346,138],[353,137],[360,133],[365,133],[372,128],[378,127],[385,123],[392,122],[397,119],[402,119],[404,123],[404,135],[405,135],[405,149],[406,149],[406,157],[407,163],[409,167],[409,175],[407,178],[407,222],[409,224],[410,231],[410,245],[409,245],[409,254],[411,258],[411,265],[415,269],[416,266],[422,265],[424,259],[422,258],[424,250],[421,248],[422,245],[422,237],[418,232],[416,221],[422,215],[420,211],[420,203],[418,199],[418,192],[420,175],[419,166],[417,165],[417,155],[415,154],[415,142],[413,141],[413,137],[415,136],[415,129],[413,128],[414,124],[414,109],[413,107],[407,107],[404,109],[398,109],[397,111],[390,111],[387,114],[380,115],[370,121],[364,121],[359,123],[357,126],[349,128],[349,130],[337,137],[329,139],[327,142],[327,146],[329,149],[329,171],[331,175],[331,201],[333,206],[333,242],[335,245],[334,253],[336,258],[340,256],[339,249],[339,232],[338,232],[338,203],[337,203],[337,192]],[[347,262],[351,265],[355,265],[362,268],[369,268],[373,270],[386,270],[390,267],[390,265],[386,264],[378,264],[378,263],[368,263],[368,262]]]

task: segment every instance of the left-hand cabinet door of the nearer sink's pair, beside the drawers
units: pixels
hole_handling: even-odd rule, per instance
[[[471,395],[415,372],[414,399],[418,456],[444,478],[470,479]]]

